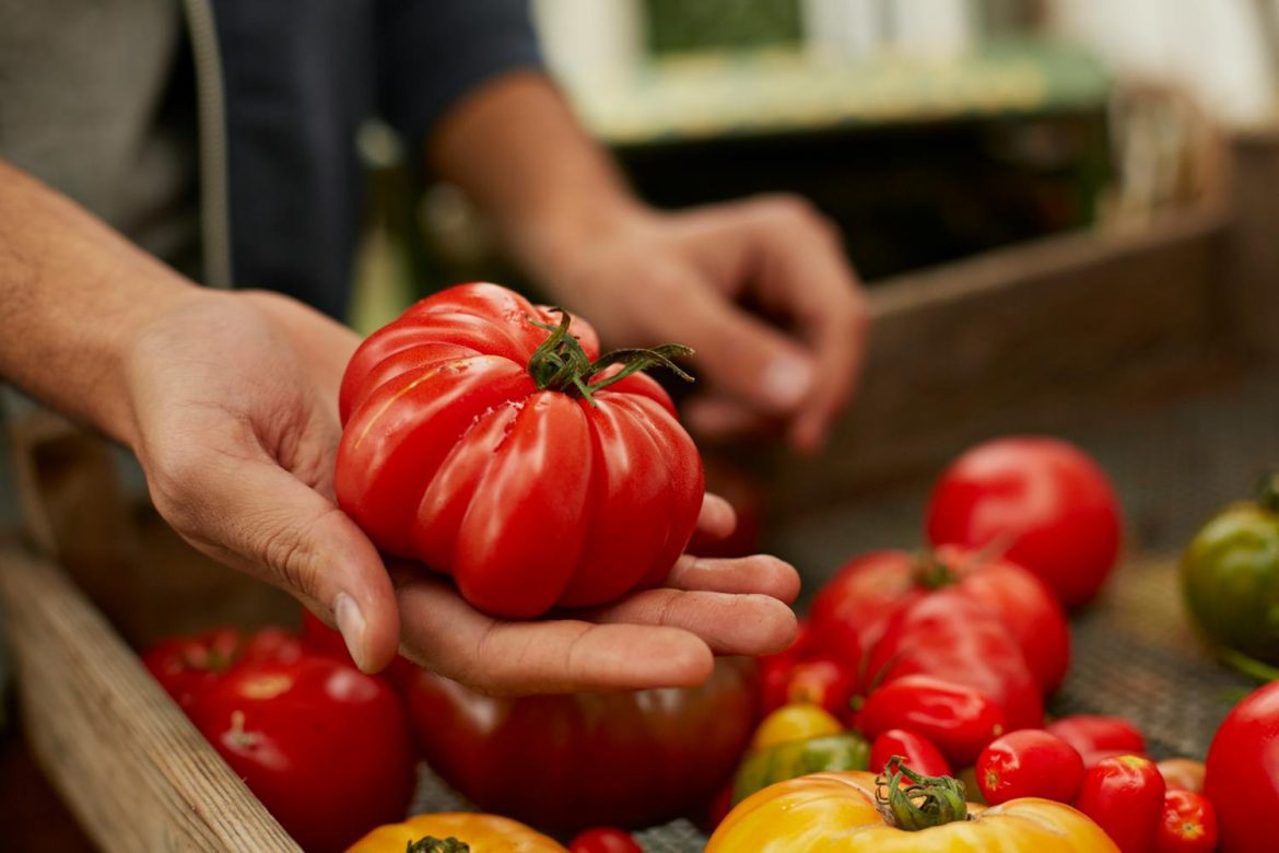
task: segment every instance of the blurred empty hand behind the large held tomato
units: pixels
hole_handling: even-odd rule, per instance
[[[546,257],[546,285],[606,341],[697,350],[707,393],[686,414],[703,434],[780,418],[796,446],[813,450],[852,394],[865,299],[834,228],[807,202],[631,212]]]

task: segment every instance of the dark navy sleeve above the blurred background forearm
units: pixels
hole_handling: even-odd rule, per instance
[[[422,141],[471,88],[542,59],[527,0],[380,0],[379,102]]]

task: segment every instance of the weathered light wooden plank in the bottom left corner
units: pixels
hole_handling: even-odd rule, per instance
[[[54,564],[0,549],[27,738],[104,850],[298,850]]]

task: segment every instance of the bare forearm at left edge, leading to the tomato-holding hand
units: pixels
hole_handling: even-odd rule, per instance
[[[193,292],[73,201],[0,161],[0,380],[129,444],[128,348]]]

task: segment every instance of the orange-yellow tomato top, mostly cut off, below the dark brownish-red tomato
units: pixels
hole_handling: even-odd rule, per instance
[[[347,849],[347,853],[404,853],[422,839],[432,836],[446,841],[457,839],[471,853],[565,853],[564,848],[519,821],[498,815],[440,812],[417,815],[403,824],[379,826]],[[448,844],[427,847],[428,853],[443,853]],[[457,845],[453,845],[457,849]]]

